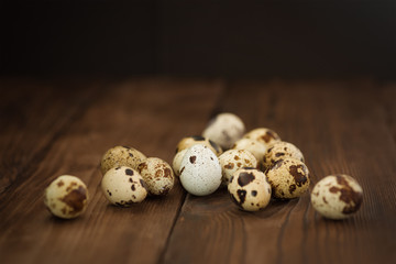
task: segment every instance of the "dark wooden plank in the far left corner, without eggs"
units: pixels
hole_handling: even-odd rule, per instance
[[[87,82],[2,79],[0,194],[36,169],[51,143],[98,96]]]

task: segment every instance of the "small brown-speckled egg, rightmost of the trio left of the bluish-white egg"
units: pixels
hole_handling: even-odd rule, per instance
[[[138,170],[147,185],[148,194],[164,196],[172,190],[175,176],[169,164],[157,157],[147,157]]]

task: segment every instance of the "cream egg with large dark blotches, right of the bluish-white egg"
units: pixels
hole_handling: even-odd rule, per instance
[[[263,172],[256,168],[240,168],[230,178],[228,190],[231,200],[245,211],[258,211],[271,200],[271,186]]]

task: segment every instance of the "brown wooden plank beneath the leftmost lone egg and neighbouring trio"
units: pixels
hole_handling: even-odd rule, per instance
[[[184,200],[177,184],[165,198],[132,208],[110,206],[100,190],[99,161],[113,145],[131,145],[172,162],[178,140],[202,130],[221,92],[219,81],[131,80],[108,87],[51,145],[0,206],[4,263],[135,262],[161,258]],[[50,216],[42,193],[62,174],[79,176],[90,201],[78,219]],[[28,220],[29,219],[29,220]]]

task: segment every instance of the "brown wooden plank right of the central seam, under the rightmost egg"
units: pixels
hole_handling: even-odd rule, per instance
[[[371,81],[231,85],[220,109],[241,116],[250,129],[273,128],[299,146],[312,186],[333,173],[354,176],[364,189],[363,207],[351,219],[331,221],[315,212],[308,194],[273,200],[255,213],[239,210],[226,190],[188,195],[163,262],[396,261],[396,147],[378,89]]]

